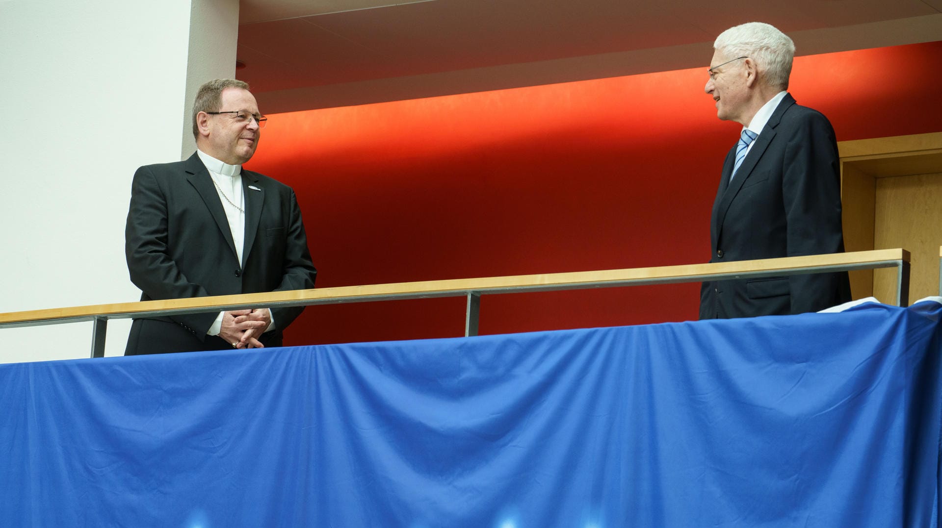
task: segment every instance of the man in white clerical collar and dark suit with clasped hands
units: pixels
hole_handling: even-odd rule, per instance
[[[265,120],[248,85],[210,81],[193,104],[197,152],[138,168],[124,249],[141,300],[314,287],[317,270],[294,191],[241,168]],[[282,330],[302,310],[135,319],[124,355],[280,346]]]

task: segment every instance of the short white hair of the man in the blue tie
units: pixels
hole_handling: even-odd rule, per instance
[[[716,38],[713,48],[728,57],[752,58],[769,86],[788,89],[795,43],[775,26],[750,22],[730,27]]]

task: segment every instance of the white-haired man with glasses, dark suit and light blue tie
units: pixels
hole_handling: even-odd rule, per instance
[[[710,262],[843,251],[834,129],[786,91],[791,39],[750,23],[727,29],[713,47],[705,89],[717,117],[743,130],[713,203]],[[817,312],[850,298],[847,272],[709,281],[700,318]]]

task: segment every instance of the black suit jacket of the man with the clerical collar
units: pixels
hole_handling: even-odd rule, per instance
[[[250,188],[254,187],[255,189]],[[300,209],[291,187],[242,170],[244,262],[219,193],[194,152],[186,161],[138,168],[131,187],[124,251],[141,300],[222,296],[314,287]],[[266,308],[266,307],[258,307]],[[263,344],[280,345],[281,330],[303,310],[271,310],[276,329]],[[136,319],[125,355],[232,347],[207,336],[219,312]]]

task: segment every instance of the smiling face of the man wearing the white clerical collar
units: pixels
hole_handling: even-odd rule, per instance
[[[221,112],[246,110],[256,115],[259,113],[255,97],[247,89],[225,88],[220,94],[220,101]],[[201,112],[197,122],[200,128],[197,146],[219,161],[241,165],[255,153],[261,136],[258,121],[239,123],[235,120],[235,114],[209,115]]]

